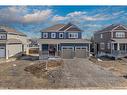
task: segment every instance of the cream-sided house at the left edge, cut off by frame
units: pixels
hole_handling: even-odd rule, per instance
[[[0,26],[0,58],[27,53],[27,36],[15,29]]]

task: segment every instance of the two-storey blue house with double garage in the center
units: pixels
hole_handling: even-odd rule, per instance
[[[41,31],[39,58],[85,58],[89,56],[90,41],[82,39],[82,31],[74,24],[57,24]]]

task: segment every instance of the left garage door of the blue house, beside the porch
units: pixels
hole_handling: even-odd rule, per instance
[[[73,59],[73,57],[74,57],[74,47],[71,47],[71,46],[62,47],[61,56],[62,56],[62,58],[65,58],[65,59]]]

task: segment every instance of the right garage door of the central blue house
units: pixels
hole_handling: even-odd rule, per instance
[[[75,47],[75,57],[86,58],[88,57],[87,47]]]

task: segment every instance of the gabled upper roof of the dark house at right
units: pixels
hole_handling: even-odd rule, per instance
[[[122,24],[112,24],[112,25],[110,25],[110,26],[108,26],[108,27],[106,27],[106,28],[104,28],[104,29],[102,29],[100,31],[96,31],[96,32],[112,31],[113,29],[115,29],[115,30],[121,30],[121,29],[127,30],[126,27],[124,25],[122,25]]]

